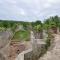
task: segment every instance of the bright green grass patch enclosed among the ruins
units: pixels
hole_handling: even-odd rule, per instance
[[[30,39],[30,33],[29,31],[18,31],[15,33],[13,40],[16,41],[29,41]]]

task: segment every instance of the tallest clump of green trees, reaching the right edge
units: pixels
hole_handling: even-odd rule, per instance
[[[46,19],[43,23],[43,29],[49,32],[50,29],[55,30],[60,29],[60,17],[54,16]]]

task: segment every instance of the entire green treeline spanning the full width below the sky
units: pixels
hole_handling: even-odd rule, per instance
[[[0,27],[15,29],[17,26],[23,25],[24,29],[32,29],[34,31],[41,31],[42,29],[60,29],[60,17],[54,16],[44,20],[42,23],[40,20],[36,22],[24,22],[24,21],[3,21],[0,20]]]

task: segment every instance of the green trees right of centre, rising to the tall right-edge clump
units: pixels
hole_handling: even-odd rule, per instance
[[[54,16],[50,17],[48,19],[45,19],[42,23],[41,21],[36,21],[32,23],[33,29],[37,32],[43,30],[53,30],[54,32],[57,32],[57,30],[60,31],[60,17]]]

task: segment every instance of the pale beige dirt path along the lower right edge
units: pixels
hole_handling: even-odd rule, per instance
[[[60,60],[60,35],[56,35],[54,44],[54,48],[47,51],[39,60]]]

